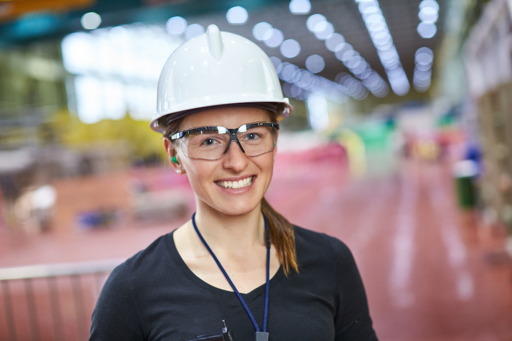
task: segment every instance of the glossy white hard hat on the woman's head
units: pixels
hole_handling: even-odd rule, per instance
[[[157,111],[151,129],[164,132],[172,122],[210,106],[261,103],[276,108],[278,120],[293,110],[268,56],[238,34],[215,25],[185,41],[163,66],[158,81]],[[192,110],[196,109],[196,110]]]

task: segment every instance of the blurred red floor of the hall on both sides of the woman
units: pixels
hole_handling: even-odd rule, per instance
[[[512,340],[512,264],[489,257],[503,236],[457,210],[448,167],[403,163],[396,174],[347,182],[326,166],[276,172],[269,201],[349,245],[380,340]],[[0,267],[128,257],[180,223],[5,244]]]

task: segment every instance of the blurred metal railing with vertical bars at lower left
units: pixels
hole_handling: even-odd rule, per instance
[[[123,261],[0,268],[0,302],[4,305],[4,314],[0,313],[0,339],[87,340],[90,312],[101,287],[108,274]]]

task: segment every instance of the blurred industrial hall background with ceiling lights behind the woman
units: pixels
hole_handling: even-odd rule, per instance
[[[378,338],[512,340],[510,0],[0,1],[0,340],[87,340],[110,271],[195,212],[149,122],[211,24],[270,57],[265,197],[348,245]]]

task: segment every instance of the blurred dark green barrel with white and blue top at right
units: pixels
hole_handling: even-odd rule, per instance
[[[457,201],[461,209],[474,209],[477,204],[477,189],[473,179],[478,173],[474,161],[459,161],[454,166],[455,190]]]

